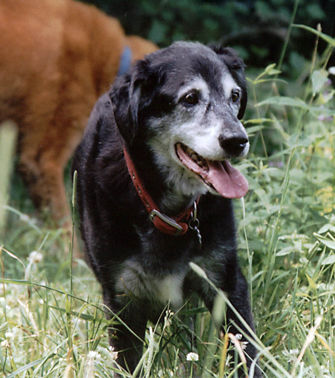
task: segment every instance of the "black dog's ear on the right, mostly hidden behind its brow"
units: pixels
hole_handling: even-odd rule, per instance
[[[215,43],[209,44],[208,47],[214,50],[214,52],[223,59],[234,80],[242,90],[241,104],[237,114],[237,118],[240,120],[244,115],[248,99],[247,85],[244,74],[245,64],[243,63],[243,60],[238,57],[236,52],[230,47],[223,47],[220,44]]]

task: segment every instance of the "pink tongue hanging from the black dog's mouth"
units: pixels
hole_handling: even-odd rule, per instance
[[[228,160],[207,160],[207,164],[207,179],[219,194],[226,198],[241,198],[246,194],[249,189],[246,178]]]

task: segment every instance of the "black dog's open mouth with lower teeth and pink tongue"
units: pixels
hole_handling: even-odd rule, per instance
[[[202,158],[182,143],[175,145],[180,161],[208,185],[226,198],[240,198],[248,191],[246,178],[228,160],[214,161]]]

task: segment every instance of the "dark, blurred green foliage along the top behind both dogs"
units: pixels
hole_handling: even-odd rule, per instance
[[[290,24],[294,0],[89,0],[117,17],[128,34],[138,34],[161,47],[174,40],[222,40],[238,49],[248,66],[278,62]],[[335,34],[335,0],[300,0],[296,24]],[[294,28],[283,70],[299,74],[304,58],[310,59],[314,35]],[[320,51],[324,45],[320,43]],[[334,63],[334,62],[332,62]],[[296,72],[297,71],[297,72]]]

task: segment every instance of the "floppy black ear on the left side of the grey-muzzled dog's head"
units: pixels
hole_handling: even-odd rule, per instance
[[[115,122],[128,145],[134,142],[138,133],[140,110],[148,106],[154,95],[156,76],[146,60],[138,61],[129,74],[115,80],[109,91]]]

